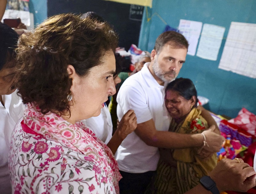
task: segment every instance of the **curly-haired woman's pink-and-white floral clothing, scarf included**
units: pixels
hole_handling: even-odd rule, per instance
[[[119,193],[111,150],[79,122],[27,104],[12,133],[9,170],[14,194]]]

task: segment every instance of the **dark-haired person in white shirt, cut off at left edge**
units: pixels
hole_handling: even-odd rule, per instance
[[[0,193],[5,194],[12,193],[8,170],[11,134],[25,110],[15,91],[14,50],[18,38],[19,35],[12,28],[0,22]]]

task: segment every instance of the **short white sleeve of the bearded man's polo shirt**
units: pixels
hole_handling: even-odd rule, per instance
[[[152,119],[152,115],[148,108],[147,95],[142,89],[141,85],[137,84],[136,87],[126,85],[120,88],[116,101],[117,116],[119,121],[128,110],[134,110],[137,123],[143,123]]]

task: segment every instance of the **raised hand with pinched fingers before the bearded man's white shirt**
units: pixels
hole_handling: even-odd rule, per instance
[[[133,110],[127,111],[117,127],[118,136],[124,140],[137,128],[137,117]]]

